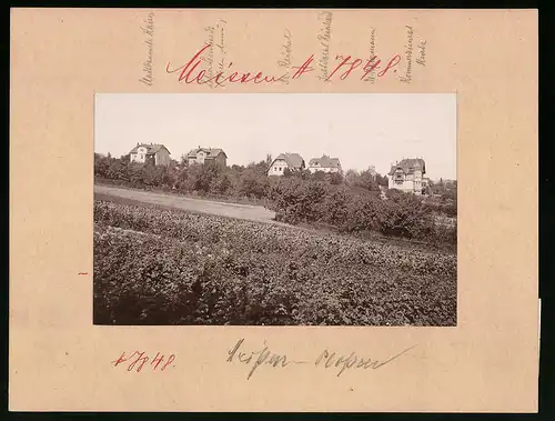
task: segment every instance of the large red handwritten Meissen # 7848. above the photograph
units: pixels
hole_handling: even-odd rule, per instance
[[[285,72],[280,76],[265,76],[262,71],[254,72],[239,72],[231,71],[230,69],[233,66],[233,62],[230,62],[226,66],[225,70],[219,71],[215,76],[210,77],[209,72],[205,69],[199,69],[199,66],[202,61],[204,61],[203,53],[204,51],[211,49],[211,44],[205,44],[202,49],[200,49],[185,64],[180,66],[178,68],[172,69],[171,62],[168,62],[165,66],[167,73],[179,73],[178,80],[179,82],[198,83],[205,84],[214,82],[216,87],[224,86],[225,82],[229,83],[283,83],[286,78],[289,78],[289,72]],[[384,77],[390,70],[396,72],[395,67],[401,61],[401,56],[393,56],[385,64],[382,64],[382,60],[376,56],[372,57],[370,60],[366,59],[355,59],[351,56],[335,56],[335,60],[339,63],[335,66],[333,71],[325,79],[326,81],[332,80],[345,80],[351,73],[355,70],[362,70],[361,80],[364,80],[369,77],[374,70],[380,70],[376,76],[379,78]],[[296,70],[294,74],[291,77],[291,80],[300,79],[303,74],[310,73],[314,70],[311,67],[314,61],[314,54],[309,57],[303,64],[299,67],[292,67],[292,70]],[[228,72],[229,71],[229,72]]]

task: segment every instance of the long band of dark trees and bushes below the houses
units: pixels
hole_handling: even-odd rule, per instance
[[[437,215],[456,217],[456,182],[441,180],[430,186],[430,196],[416,197],[386,190],[387,178],[372,170],[311,173],[285,170],[268,177],[272,157],[248,166],[188,166],[185,160],[169,167],[130,162],[94,154],[94,176],[134,188],[161,189],[183,194],[225,197],[262,201],[287,223],[317,223],[343,232],[380,232],[385,235],[432,242],[456,243],[456,224],[438,224]]]

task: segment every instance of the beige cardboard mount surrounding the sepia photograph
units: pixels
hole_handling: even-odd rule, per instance
[[[537,12],[334,10],[331,62],[367,57],[371,27],[376,54],[403,54],[412,26],[414,46],[426,40],[426,66],[413,63],[411,83],[307,74],[225,89],[457,93],[456,328],[93,327],[94,93],[213,92],[178,83],[165,64],[184,63],[220,19],[238,70],[279,73],[285,28],[294,64],[321,53],[315,10],[155,10],[148,87],[139,82],[148,12],[11,12],[10,409],[536,411]],[[312,365],[261,368],[248,381],[246,367],[225,362],[239,338],[300,359],[324,348],[376,359],[416,348],[380,370],[337,378]],[[175,367],[111,364],[133,350],[175,353]]]

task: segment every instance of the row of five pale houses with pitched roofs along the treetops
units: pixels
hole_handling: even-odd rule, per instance
[[[203,164],[209,162],[224,167],[228,164],[228,156],[220,148],[201,148],[199,146],[199,148],[186,153],[184,158],[188,164]],[[130,152],[130,161],[170,166],[171,158],[170,151],[163,144],[138,143]],[[268,176],[283,176],[286,169],[291,171],[307,169],[312,173],[317,171],[325,173],[343,172],[339,158],[331,158],[323,154],[320,158],[312,158],[306,166],[304,159],[299,153],[287,152],[280,153],[272,160],[268,168]],[[387,173],[389,188],[421,194],[430,183],[425,174],[426,163],[422,158],[403,159],[391,166],[391,170]]]

